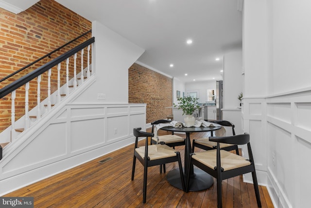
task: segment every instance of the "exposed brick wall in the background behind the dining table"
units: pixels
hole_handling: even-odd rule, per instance
[[[128,102],[146,103],[146,123],[172,114],[173,79],[134,63],[128,69]]]

